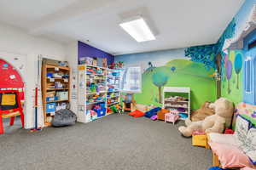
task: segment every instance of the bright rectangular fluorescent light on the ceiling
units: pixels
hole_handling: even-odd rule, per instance
[[[155,40],[154,34],[148,27],[145,20],[143,20],[143,18],[124,22],[119,24],[119,26],[121,26],[137,42],[147,42]]]

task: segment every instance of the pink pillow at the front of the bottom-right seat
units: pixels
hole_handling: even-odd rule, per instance
[[[218,160],[222,167],[252,167],[249,158],[236,146],[213,142],[210,142],[209,145],[211,146],[213,153],[218,156]]]

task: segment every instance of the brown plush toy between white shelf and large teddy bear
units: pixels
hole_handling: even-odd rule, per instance
[[[211,104],[210,102],[205,102],[203,105],[201,105],[200,109],[193,111],[191,116],[191,121],[192,122],[202,121],[207,116],[214,115],[214,111],[209,107],[210,104]]]

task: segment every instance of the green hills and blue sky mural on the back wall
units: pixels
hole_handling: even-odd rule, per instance
[[[192,109],[200,108],[205,101],[216,99],[215,81],[212,78],[214,69],[185,57],[185,48],[119,55],[115,61],[123,61],[125,66],[142,67],[142,93],[134,96],[137,103],[161,105],[165,86],[190,87]]]

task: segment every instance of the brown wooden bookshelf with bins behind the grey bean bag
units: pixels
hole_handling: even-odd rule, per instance
[[[66,109],[69,105],[70,69],[43,63],[41,78],[44,125],[49,127],[55,111]]]

